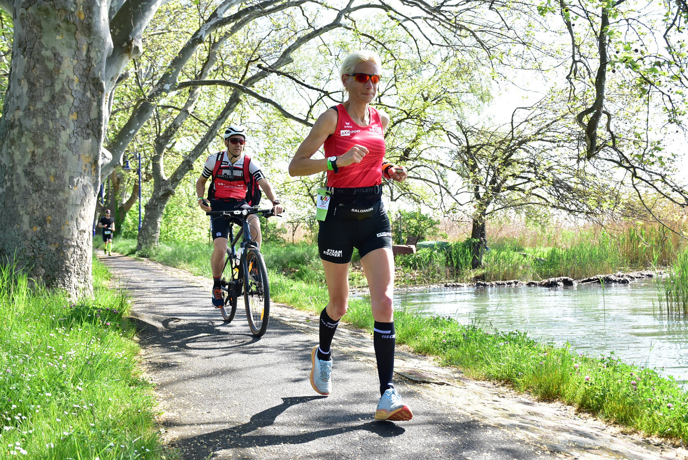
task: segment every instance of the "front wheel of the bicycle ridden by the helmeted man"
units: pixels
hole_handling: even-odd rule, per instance
[[[246,319],[254,336],[261,337],[268,329],[270,318],[270,283],[263,255],[250,248],[244,265],[244,303]]]

